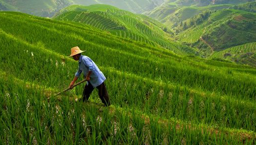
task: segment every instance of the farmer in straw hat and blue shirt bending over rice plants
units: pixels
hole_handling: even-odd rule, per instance
[[[71,48],[71,55],[69,57],[73,57],[73,59],[79,61],[79,63],[78,70],[75,73],[75,77],[73,81],[70,83],[69,87],[72,88],[76,80],[83,72],[87,80],[87,85],[84,87],[83,92],[83,102],[88,101],[91,93],[96,87],[98,89],[98,95],[102,103],[104,103],[105,106],[109,106],[110,101],[107,89],[104,84],[106,78],[103,75],[103,73],[99,70],[95,62],[91,58],[81,55],[82,52],[85,51],[81,51],[79,47]]]

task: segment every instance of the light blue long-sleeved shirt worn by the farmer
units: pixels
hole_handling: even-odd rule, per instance
[[[93,87],[98,87],[106,80],[105,76],[99,70],[95,62],[91,58],[81,55],[78,62],[78,70],[75,73],[75,76],[79,78],[82,72],[86,76],[89,71],[92,71],[89,82]]]

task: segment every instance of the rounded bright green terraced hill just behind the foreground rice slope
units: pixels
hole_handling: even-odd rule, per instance
[[[177,54],[196,52],[171,39],[173,32],[160,22],[110,5],[72,5],[62,9],[54,19],[88,24],[117,36],[161,46]]]

